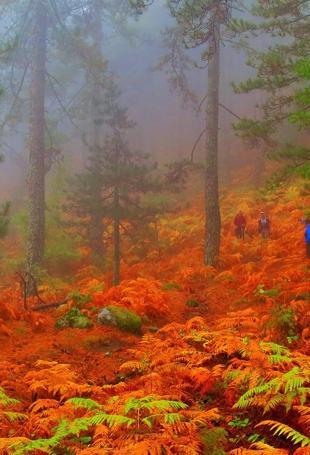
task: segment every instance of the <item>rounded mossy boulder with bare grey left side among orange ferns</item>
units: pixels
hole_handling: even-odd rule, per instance
[[[140,316],[127,308],[109,305],[98,314],[98,322],[103,325],[114,325],[125,332],[141,333]]]

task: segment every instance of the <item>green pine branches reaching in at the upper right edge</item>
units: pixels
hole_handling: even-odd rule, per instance
[[[283,147],[282,140],[284,128],[287,130],[289,124],[300,129],[309,126],[309,89],[305,81],[309,78],[310,48],[306,31],[310,21],[306,3],[257,0],[251,8],[255,21],[234,20],[232,23],[235,31],[252,35],[254,39],[267,33],[271,43],[263,50],[245,43],[247,64],[255,74],[233,87],[236,93],[261,93],[262,117],[260,120],[244,118],[235,123],[234,128],[242,138],[261,143],[269,157],[284,160],[290,169],[304,168],[309,160],[309,148],[291,144]],[[292,127],[289,131],[294,134]]]

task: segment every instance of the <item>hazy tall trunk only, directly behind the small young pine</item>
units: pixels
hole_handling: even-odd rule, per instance
[[[94,46],[94,53],[98,61],[103,59],[102,56],[102,21],[101,21],[100,0],[92,1],[92,20],[91,20],[91,36]],[[90,62],[92,64],[92,62]],[[102,182],[101,182],[101,128],[102,128],[102,113],[101,113],[101,72],[96,65],[89,69],[89,79],[91,81],[91,162],[92,162],[92,213],[89,224],[89,243],[92,251],[93,261],[100,266],[104,262],[103,248],[103,223],[102,223]]]

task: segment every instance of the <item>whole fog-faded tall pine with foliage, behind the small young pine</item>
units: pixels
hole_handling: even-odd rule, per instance
[[[74,0],[73,0],[74,1]],[[93,263],[103,266],[105,262],[105,251],[103,236],[105,227],[102,222],[102,200],[101,200],[101,152],[104,142],[104,135],[107,127],[113,128],[111,121],[118,122],[118,128],[131,126],[126,119],[125,111],[118,108],[116,104],[111,105],[111,100],[118,97],[113,77],[108,72],[107,61],[104,57],[105,39],[111,33],[124,34],[126,21],[129,16],[136,14],[127,0],[83,0],[77,2],[73,15],[71,34],[73,43],[67,50],[67,58],[71,59],[73,54],[77,57],[75,63],[82,66],[85,81],[84,89],[78,100],[80,106],[75,106],[76,118],[82,132],[83,145],[87,151],[88,173],[91,182],[88,185],[89,194],[89,221],[88,239],[92,252]],[[107,31],[108,30],[108,31]],[[76,49],[76,44],[80,51]],[[69,52],[68,52],[69,51]],[[82,56],[82,65],[81,65]],[[113,104],[113,101],[112,101]],[[79,115],[81,110],[83,114]],[[71,109],[72,111],[72,109]],[[73,116],[75,114],[73,113]],[[111,120],[111,115],[114,116]]]

